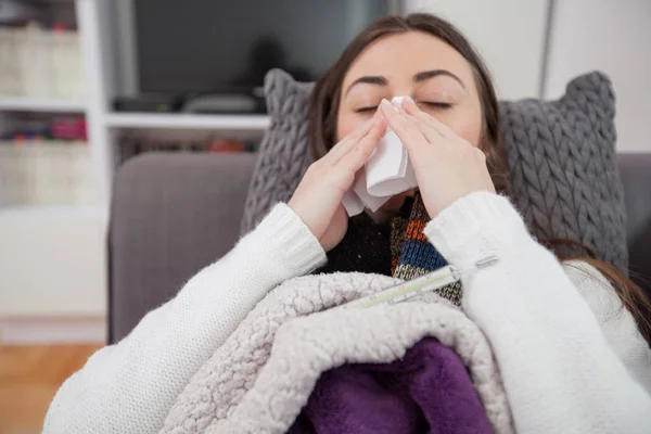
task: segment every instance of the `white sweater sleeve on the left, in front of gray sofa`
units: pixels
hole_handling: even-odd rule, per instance
[[[326,263],[318,240],[277,205],[225,257],[95,353],[59,390],[43,433],[155,433],[177,396],[269,290]]]

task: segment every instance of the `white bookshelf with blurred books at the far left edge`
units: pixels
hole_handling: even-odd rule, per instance
[[[49,331],[61,327],[78,336],[78,321],[97,326],[82,341],[104,340],[107,174],[98,170],[101,131],[88,131],[90,119],[102,123],[95,95],[103,84],[93,77],[95,53],[89,56],[98,23],[88,13],[100,2],[30,2],[28,18],[40,26],[0,27],[0,345],[52,342]],[[87,135],[53,133],[75,119],[76,127],[86,119]],[[82,200],[60,183],[79,174],[74,187],[90,192]]]

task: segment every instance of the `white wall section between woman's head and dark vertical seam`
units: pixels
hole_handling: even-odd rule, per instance
[[[405,0],[406,12],[438,14],[463,31],[502,99],[539,97],[547,8],[548,0]]]

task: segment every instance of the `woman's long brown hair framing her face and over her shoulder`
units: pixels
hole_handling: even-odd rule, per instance
[[[314,157],[320,158],[336,142],[336,120],[344,77],[361,51],[384,36],[407,31],[423,31],[442,39],[470,63],[482,105],[482,138],[480,146],[486,154],[486,165],[495,188],[509,194],[506,151],[500,140],[499,112],[490,74],[468,39],[450,23],[435,15],[417,13],[408,16],[385,16],[362,30],[344,50],[334,65],[319,79],[311,94],[308,112],[308,135]],[[550,240],[548,247],[559,243],[580,244],[572,240]],[[589,253],[589,250],[586,250]],[[558,252],[561,260],[571,259]],[[625,308],[635,318],[640,333],[651,343],[651,303],[644,292],[615,267],[592,258],[580,258],[599,270],[613,285]]]

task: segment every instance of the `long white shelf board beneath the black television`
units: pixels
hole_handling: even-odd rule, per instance
[[[202,129],[264,131],[267,115],[200,115],[186,113],[111,113],[106,125],[112,128]]]

